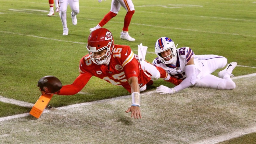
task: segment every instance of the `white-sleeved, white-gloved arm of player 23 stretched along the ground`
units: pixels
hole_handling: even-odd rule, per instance
[[[184,90],[192,85],[195,84],[195,71],[196,66],[194,64],[194,57],[190,59],[190,61],[185,66],[185,73],[186,73],[186,79],[184,79],[179,85],[175,86],[172,89],[169,89],[166,86],[161,85],[160,87],[157,87],[157,92],[160,94],[166,94],[166,93],[176,93],[178,91]]]

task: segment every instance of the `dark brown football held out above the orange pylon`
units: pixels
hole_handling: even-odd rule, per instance
[[[62,88],[61,81],[54,76],[45,76],[37,82],[38,87],[45,93],[53,94]]]

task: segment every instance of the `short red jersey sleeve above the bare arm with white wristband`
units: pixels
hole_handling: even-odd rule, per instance
[[[133,58],[131,62],[129,62],[124,66],[124,74],[126,79],[129,79],[131,77],[138,77],[139,75],[138,71],[139,71],[138,60],[136,60],[135,58]]]

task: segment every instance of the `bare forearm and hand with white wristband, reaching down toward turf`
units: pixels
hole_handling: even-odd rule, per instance
[[[140,112],[140,93],[139,93],[139,83],[137,77],[131,77],[127,79],[127,82],[131,86],[132,93],[132,106],[128,108],[126,113],[131,112],[131,117],[142,118]]]

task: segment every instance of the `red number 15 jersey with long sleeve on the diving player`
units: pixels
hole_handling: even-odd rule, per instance
[[[138,77],[140,88],[147,84],[151,75],[142,70],[136,55],[126,45],[114,45],[110,55],[109,65],[96,65],[89,54],[80,60],[80,75],[71,85],[63,86],[56,94],[73,95],[78,93],[92,76],[106,80],[113,85],[122,85],[131,93],[131,87],[127,79]]]

